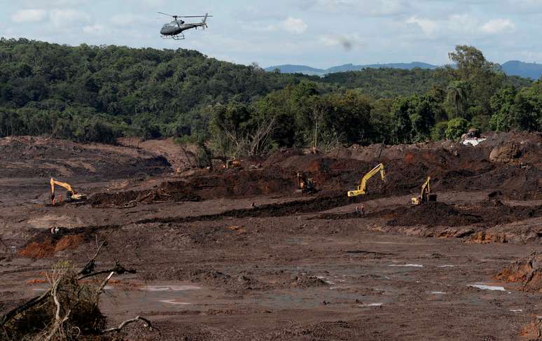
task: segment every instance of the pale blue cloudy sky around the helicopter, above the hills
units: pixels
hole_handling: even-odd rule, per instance
[[[6,38],[188,48],[261,67],[441,65],[458,44],[492,62],[542,62],[542,0],[0,0],[0,8]],[[158,11],[214,17],[204,32],[172,41],[160,38],[169,19]]]

